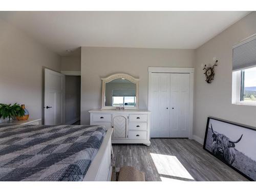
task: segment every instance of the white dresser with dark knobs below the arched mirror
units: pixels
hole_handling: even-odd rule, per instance
[[[90,124],[114,128],[112,143],[150,142],[150,115],[147,110],[91,110]]]

